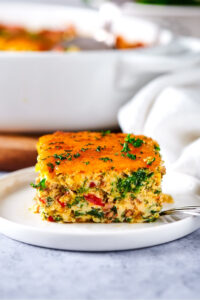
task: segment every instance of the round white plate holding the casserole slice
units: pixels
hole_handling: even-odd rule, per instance
[[[166,243],[200,227],[200,218],[187,216],[162,217],[149,224],[56,224],[42,221],[40,215],[29,209],[35,194],[30,182],[35,176],[34,169],[28,168],[0,179],[0,231],[18,241],[65,250],[125,250]],[[195,182],[189,176],[168,175],[165,189],[173,193],[176,206],[200,204],[195,196]],[[183,195],[175,195],[176,190],[183,190]]]

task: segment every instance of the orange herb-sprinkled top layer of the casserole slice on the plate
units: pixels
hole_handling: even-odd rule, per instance
[[[161,165],[157,142],[143,135],[130,135],[143,141],[129,151],[122,151],[127,134],[100,132],[56,132],[39,139],[36,170],[48,177],[58,174],[96,173],[114,170],[135,171],[139,168],[156,170]],[[127,156],[127,153],[129,157]],[[131,159],[130,155],[135,155]]]

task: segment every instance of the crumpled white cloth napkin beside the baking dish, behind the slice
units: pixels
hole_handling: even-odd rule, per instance
[[[120,109],[118,120],[123,132],[157,140],[167,169],[192,176],[200,188],[200,69],[151,81]]]

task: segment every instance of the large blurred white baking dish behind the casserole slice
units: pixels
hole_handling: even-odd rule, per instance
[[[23,3],[1,3],[0,22],[30,28],[63,28],[73,22],[92,33],[98,12]],[[179,67],[159,52],[171,34],[140,19],[117,17],[114,30],[152,48],[97,52],[0,52],[0,130],[100,129],[117,125],[117,111],[144,83]],[[154,48],[154,49],[153,49]],[[155,53],[157,53],[155,55]],[[163,57],[162,57],[163,59]],[[187,62],[186,62],[187,64]]]

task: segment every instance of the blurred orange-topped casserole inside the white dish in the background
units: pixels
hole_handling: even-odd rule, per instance
[[[79,51],[134,49],[147,46],[141,41],[128,42],[123,36],[113,36],[112,45],[94,37],[81,36],[71,25],[63,30],[31,31],[22,26],[0,24],[0,51]]]

